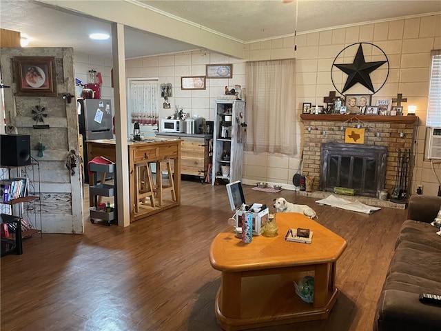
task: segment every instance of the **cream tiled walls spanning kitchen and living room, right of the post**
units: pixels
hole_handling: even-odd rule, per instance
[[[300,151],[303,143],[303,123],[300,121],[302,103],[324,104],[323,97],[335,90],[331,82],[331,66],[336,55],[352,43],[373,43],[381,48],[389,59],[390,72],[387,83],[373,96],[377,99],[391,99],[398,93],[407,97],[407,105],[417,106],[420,119],[416,139],[416,167],[413,182],[422,183],[424,194],[438,193],[438,179],[431,170],[430,161],[424,161],[425,119],[427,94],[429,90],[430,51],[441,49],[441,15],[383,21],[361,26],[336,28],[321,32],[300,34],[296,37],[296,99],[297,109],[287,119],[297,126],[297,143]],[[294,57],[294,37],[273,39],[245,45],[245,61],[267,59],[287,59]],[[348,61],[353,59],[348,57]],[[127,60],[127,78],[157,78],[159,83],[172,83],[173,97],[171,110],[161,108],[160,116],[165,117],[179,105],[190,114],[198,114],[206,119],[214,119],[214,100],[223,94],[225,86],[235,84],[245,86],[245,61],[227,57],[214,52],[187,52],[158,57]],[[206,90],[181,90],[181,76],[205,75],[207,63],[233,63],[232,79],[207,79]],[[343,77],[342,77],[343,79]],[[246,86],[245,86],[246,89]],[[350,90],[357,94],[357,86]],[[349,92],[348,92],[349,93]],[[160,100],[160,105],[163,100]],[[244,154],[244,183],[256,181],[280,183],[284,187],[292,186],[292,177],[298,170],[298,155],[283,154]],[[438,163],[433,165],[438,177],[441,170]]]

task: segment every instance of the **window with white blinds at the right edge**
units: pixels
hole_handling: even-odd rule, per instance
[[[431,52],[431,76],[429,83],[429,106],[427,126],[441,126],[441,50]]]

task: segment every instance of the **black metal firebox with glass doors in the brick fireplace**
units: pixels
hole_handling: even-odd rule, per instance
[[[376,197],[384,188],[387,148],[349,143],[323,143],[320,190],[352,188],[356,195]]]

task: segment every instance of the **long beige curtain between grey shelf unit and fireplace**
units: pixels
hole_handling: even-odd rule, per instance
[[[247,62],[245,69],[245,150],[297,154],[294,59]]]

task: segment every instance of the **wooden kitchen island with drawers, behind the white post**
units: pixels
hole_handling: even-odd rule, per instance
[[[94,157],[106,157],[112,161],[116,160],[115,139],[100,139],[86,141],[88,144],[88,159]],[[147,138],[144,141],[127,141],[130,177],[130,222],[156,214],[165,209],[181,204],[181,140],[165,138]],[[176,201],[163,199],[163,205],[151,207],[143,205],[139,212],[135,212],[135,172],[134,167],[138,163],[172,160],[174,168],[174,188],[176,190]],[[91,201],[93,202],[93,201]]]

